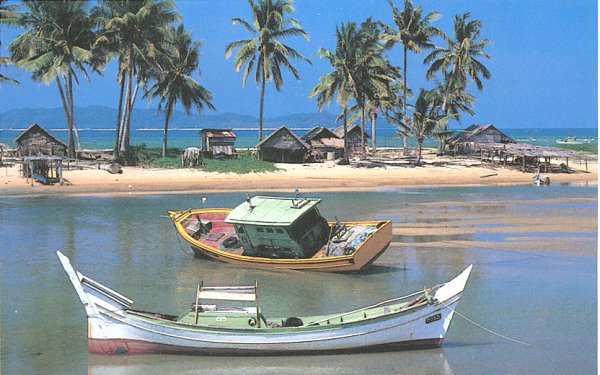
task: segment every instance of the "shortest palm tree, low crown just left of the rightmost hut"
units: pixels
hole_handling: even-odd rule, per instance
[[[410,135],[417,140],[416,165],[421,164],[423,142],[425,138],[434,134],[452,115],[440,115],[433,90],[421,89],[417,97],[412,116],[396,112],[394,122],[400,128],[401,135]],[[404,121],[406,119],[406,121]]]

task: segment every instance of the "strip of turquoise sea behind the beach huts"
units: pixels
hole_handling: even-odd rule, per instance
[[[0,142],[14,146],[13,140],[24,129],[0,129]],[[64,142],[67,141],[66,129],[48,129]],[[170,129],[168,132],[168,146],[173,148],[185,148],[200,145],[200,129]],[[234,129],[237,135],[236,147],[254,147],[258,143],[258,130],[256,129]],[[275,129],[263,129],[263,136],[267,136]],[[303,135],[309,129],[294,129],[298,135]],[[591,138],[592,144],[598,144],[598,129],[595,128],[560,128],[560,129],[537,129],[537,128],[506,128],[500,129],[509,137],[518,142],[530,143],[539,146],[555,146],[557,139],[569,135],[578,138]],[[370,126],[367,129],[370,133]],[[113,148],[115,131],[113,129],[79,129],[79,137],[83,148],[103,149]],[[131,132],[131,144],[145,144],[147,147],[162,147],[162,129],[135,129]],[[425,146],[433,147],[435,140],[426,140]],[[402,138],[396,135],[395,128],[377,129],[378,147],[398,147],[402,145]],[[409,145],[414,147],[416,142],[409,139]]]

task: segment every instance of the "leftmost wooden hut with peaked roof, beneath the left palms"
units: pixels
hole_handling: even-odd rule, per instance
[[[20,156],[67,156],[67,145],[38,124],[29,126],[14,143]]]

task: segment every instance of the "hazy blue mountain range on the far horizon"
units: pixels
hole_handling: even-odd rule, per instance
[[[336,126],[335,115],[329,112],[297,113],[267,118],[263,127],[277,128],[286,125],[290,128],[311,128],[313,126]],[[79,129],[114,129],[117,110],[110,107],[76,107],[75,121]],[[164,126],[164,113],[157,114],[156,109],[134,109],[132,113],[134,129],[159,128]],[[23,108],[11,109],[0,114],[0,129],[22,129],[37,123],[48,129],[66,128],[62,108]],[[385,125],[384,125],[385,124]],[[338,123],[339,125],[339,123]],[[370,125],[366,125],[367,127]],[[378,119],[378,126],[388,126],[384,119]],[[177,128],[257,128],[258,118],[237,113],[187,115],[175,111],[169,122],[170,129]]]

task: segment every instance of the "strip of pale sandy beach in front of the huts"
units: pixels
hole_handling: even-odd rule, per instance
[[[71,165],[64,170],[67,183],[60,186],[33,186],[20,175],[19,164],[0,169],[0,194],[146,194],[219,191],[361,191],[414,186],[497,186],[531,184],[532,173],[481,164],[478,160],[425,156],[423,166],[385,165],[359,167],[334,162],[276,164],[269,173],[209,173],[198,169],[123,167],[122,174],[110,174],[93,164]],[[571,161],[573,173],[549,173],[552,184],[597,185],[597,161],[585,165]]]

